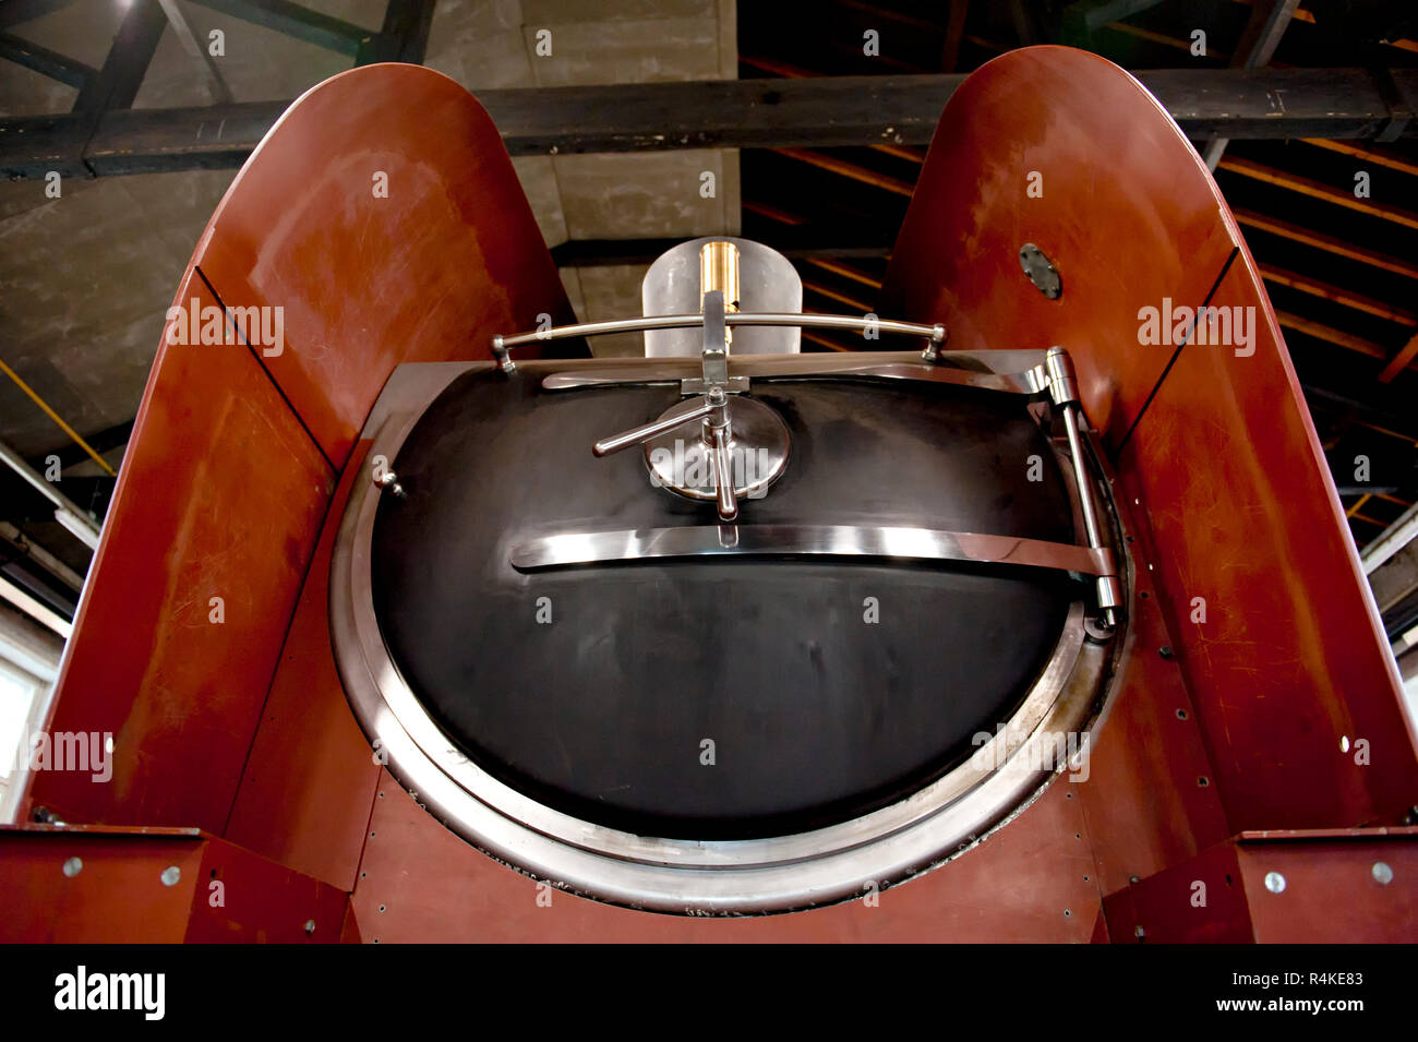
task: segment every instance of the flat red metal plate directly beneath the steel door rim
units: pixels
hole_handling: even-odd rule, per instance
[[[1078,785],[1056,781],[959,859],[862,900],[686,919],[552,892],[468,846],[383,777],[352,896],[366,941],[1088,941],[1106,936]],[[543,892],[545,893],[545,892]],[[1065,914],[1065,910],[1068,914]]]

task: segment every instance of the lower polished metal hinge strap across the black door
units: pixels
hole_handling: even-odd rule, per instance
[[[750,557],[871,557],[898,561],[973,561],[1058,568],[1085,576],[1113,571],[1112,551],[1017,536],[856,525],[698,525],[672,529],[574,532],[512,547],[518,571],[645,559],[737,554]]]

